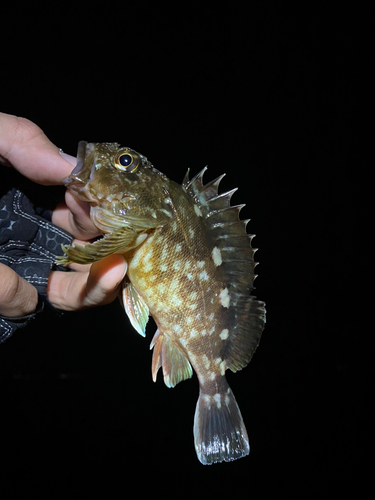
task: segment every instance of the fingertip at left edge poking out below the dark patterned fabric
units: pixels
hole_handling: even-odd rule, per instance
[[[8,266],[0,264],[0,314],[20,318],[35,311],[38,292]]]

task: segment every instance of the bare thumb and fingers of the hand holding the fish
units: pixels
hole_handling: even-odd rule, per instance
[[[61,184],[67,177],[73,157],[62,156],[43,131],[31,121],[0,113],[0,163],[12,166],[22,175],[42,185]],[[80,241],[99,234],[89,218],[89,206],[76,200],[69,192],[65,203],[52,215],[52,222]],[[126,273],[126,262],[120,255],[111,255],[91,266],[72,265],[76,272],[52,271],[47,297],[57,308],[75,310],[113,301]],[[17,317],[35,310],[36,289],[9,267],[0,264],[0,314]]]

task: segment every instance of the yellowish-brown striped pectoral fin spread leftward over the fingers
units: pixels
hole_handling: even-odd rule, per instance
[[[56,258],[56,264],[67,265],[72,262],[77,264],[92,264],[113,253],[119,253],[139,245],[147,238],[147,234],[138,235],[129,227],[120,227],[112,233],[105,234],[103,238],[85,246],[61,245],[65,255]]]

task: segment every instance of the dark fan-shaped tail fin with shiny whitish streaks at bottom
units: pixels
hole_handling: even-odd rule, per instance
[[[246,428],[229,386],[226,392],[214,396],[201,389],[195,409],[194,442],[204,465],[230,462],[249,454]]]

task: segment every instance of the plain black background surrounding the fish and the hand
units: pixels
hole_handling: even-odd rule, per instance
[[[73,155],[79,140],[118,141],[179,182],[187,168],[226,172],[222,189],[239,187],[233,203],[257,235],[268,315],[249,367],[228,374],[250,456],[210,467],[193,446],[196,378],[173,390],[151,380],[152,321],[142,339],[114,303],[17,332],[0,347],[2,497],[358,492],[373,434],[357,300],[366,14],[51,5],[4,16],[1,111]]]

